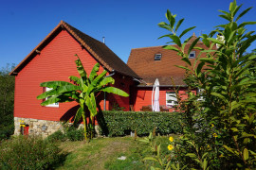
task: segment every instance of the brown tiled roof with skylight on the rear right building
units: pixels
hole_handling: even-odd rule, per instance
[[[188,43],[185,51],[188,51],[189,46]],[[198,42],[196,46],[205,47],[202,42]],[[199,50],[193,49],[192,51],[195,51],[196,56],[199,54]],[[161,59],[155,60],[155,54],[161,54]],[[205,55],[202,56],[205,57]],[[160,85],[182,86],[186,85],[183,82],[185,71],[175,66],[185,66],[185,62],[181,59],[173,50],[153,46],[132,49],[127,64],[147,82],[147,85],[154,85],[155,78],[158,78]],[[195,59],[190,60],[193,63]],[[171,76],[174,78],[174,83]]]

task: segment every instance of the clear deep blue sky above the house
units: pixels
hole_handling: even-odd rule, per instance
[[[219,9],[228,10],[230,0],[1,0],[0,68],[18,64],[46,35],[64,20],[85,34],[105,42],[120,59],[127,61],[131,49],[158,46],[167,32],[157,26],[169,8],[177,19],[185,18],[181,29],[196,26],[197,36],[213,26],[225,24]],[[243,9],[252,8],[244,21],[256,21],[256,1],[237,0]],[[242,11],[241,10],[241,11]],[[247,26],[256,30],[256,26]],[[192,35],[190,32],[189,35]],[[256,48],[253,43],[249,50]]]

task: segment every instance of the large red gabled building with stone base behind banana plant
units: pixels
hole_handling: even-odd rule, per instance
[[[76,110],[77,103],[59,103],[42,107],[36,97],[43,93],[40,83],[51,80],[69,81],[68,76],[79,76],[74,55],[82,60],[87,72],[99,62],[100,73],[108,71],[115,80],[115,87],[130,93],[130,87],[140,78],[104,43],[82,33],[73,26],[61,23],[40,42],[9,75],[15,76],[14,122],[15,134],[20,132],[20,122],[29,126],[29,133],[47,135],[62,127],[60,119]],[[129,110],[129,97],[101,94],[101,110],[110,110],[117,103]]]

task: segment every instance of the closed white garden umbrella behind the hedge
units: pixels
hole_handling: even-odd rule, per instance
[[[159,108],[159,81],[157,78],[155,79],[155,84],[154,84],[153,92],[152,92],[152,110],[160,111],[160,108]]]

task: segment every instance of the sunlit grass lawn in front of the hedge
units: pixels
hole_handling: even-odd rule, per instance
[[[66,158],[57,169],[148,169],[150,162],[143,161],[143,158],[151,156],[151,148],[138,140],[117,137],[97,138],[89,144],[60,142]],[[156,140],[163,149],[167,147],[168,137],[157,137]],[[118,160],[121,156],[126,157],[126,160]]]

